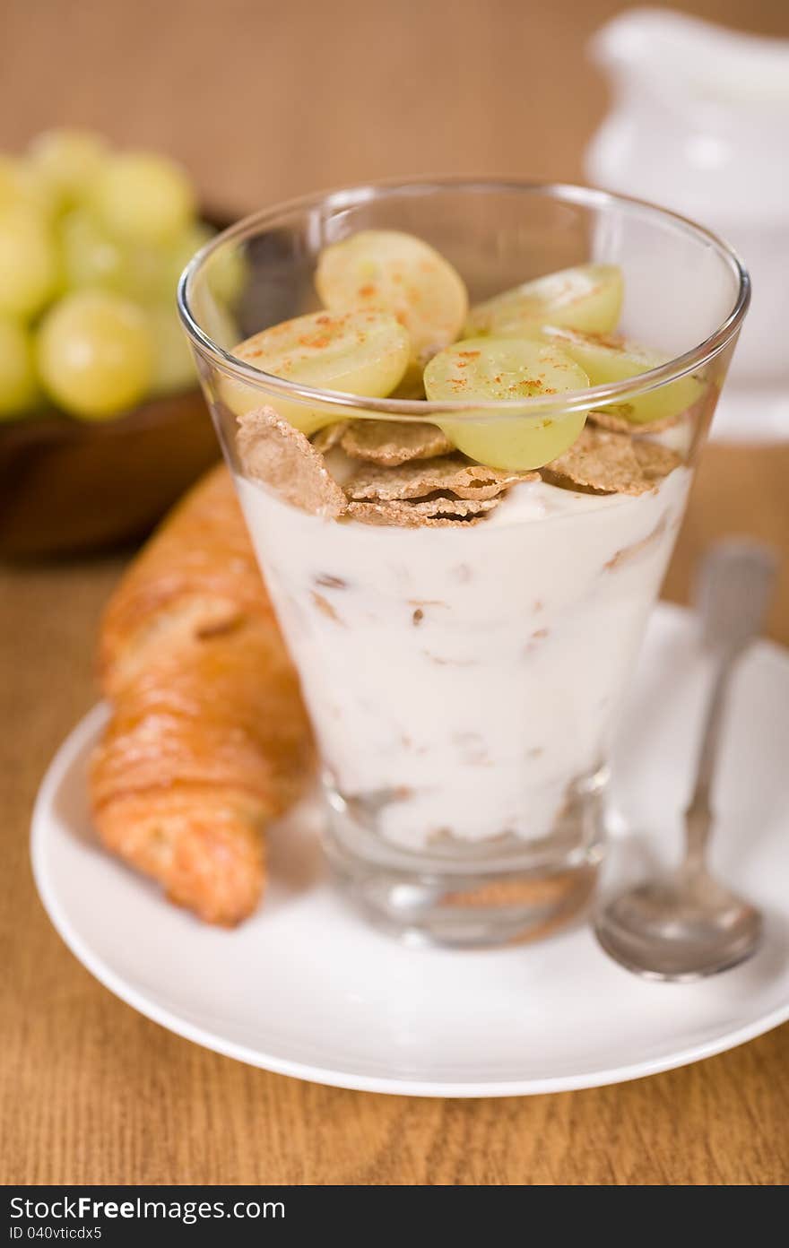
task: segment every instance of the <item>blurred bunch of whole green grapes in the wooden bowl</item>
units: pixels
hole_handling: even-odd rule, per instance
[[[0,419],[106,421],[192,388],[176,286],[212,233],[166,156],[79,130],[0,155]],[[243,273],[225,276],[232,298]]]

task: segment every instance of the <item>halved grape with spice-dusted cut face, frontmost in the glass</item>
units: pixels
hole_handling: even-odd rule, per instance
[[[586,389],[589,378],[557,347],[526,338],[468,338],[447,347],[424,369],[432,402],[543,398]],[[458,419],[436,419],[449,441],[491,468],[541,468],[573,444],[587,412],[559,416],[504,416],[473,412]]]

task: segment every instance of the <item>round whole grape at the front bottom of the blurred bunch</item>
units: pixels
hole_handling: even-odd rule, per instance
[[[41,322],[37,362],[55,403],[74,416],[101,421],[147,393],[152,333],[130,300],[106,291],[75,291]]]

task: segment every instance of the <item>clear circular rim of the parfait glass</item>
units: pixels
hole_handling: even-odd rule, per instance
[[[232,352],[226,351],[216,343],[201,327],[191,308],[191,292],[194,282],[212,255],[228,243],[245,241],[260,232],[261,227],[273,226],[281,217],[307,208],[348,208],[370,203],[388,195],[431,195],[439,191],[476,191],[476,192],[517,192],[527,196],[553,198],[559,203],[574,203],[583,207],[618,206],[635,215],[647,218],[669,221],[674,227],[695,238],[699,243],[712,247],[718,257],[728,266],[737,280],[737,297],[734,305],[724,321],[707,338],[690,347],[688,351],[675,356],[655,368],[637,373],[635,377],[619,382],[610,382],[605,386],[591,386],[586,389],[567,391],[561,394],[534,396],[517,399],[404,399],[404,398],[372,398],[365,394],[350,394],[346,391],[320,389],[313,386],[302,386],[286,377],[277,377],[267,373],[253,364],[240,359]],[[680,377],[693,373],[704,364],[714,359],[732,342],[743,322],[748,305],[750,302],[750,277],[734,248],[720,238],[712,230],[698,225],[689,217],[684,217],[669,208],[659,207],[645,200],[634,198],[627,195],[618,195],[613,191],[598,190],[595,187],[578,186],[569,182],[533,182],[517,177],[464,177],[464,176],[439,176],[439,177],[412,177],[412,178],[386,178],[375,182],[363,182],[356,186],[338,187],[330,191],[317,191],[310,195],[275,203],[271,207],[261,208],[235,222],[227,230],[216,235],[192,256],[186,268],[181,273],[177,290],[177,308],[181,322],[187,332],[195,349],[203,357],[207,356],[223,372],[247,382],[256,389],[271,391],[290,401],[303,401],[306,403],[321,404],[322,407],[342,407],[351,409],[355,414],[386,418],[390,421],[424,421],[431,416],[452,413],[453,417],[468,417],[479,419],[484,417],[509,416],[544,416],[549,413],[571,413],[588,411],[597,407],[623,404],[640,394],[665,386]]]

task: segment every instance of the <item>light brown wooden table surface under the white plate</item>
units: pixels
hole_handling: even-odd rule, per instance
[[[0,149],[72,122],[159,145],[212,202],[418,171],[581,176],[605,104],[583,45],[604,0],[4,0]],[[785,0],[685,4],[789,35]],[[724,532],[789,557],[789,446],[708,448],[667,583]],[[645,1183],[789,1179],[789,1027],[618,1087],[418,1101],[317,1087],[170,1035],[50,927],[27,862],[52,751],[95,699],[122,557],[0,587],[0,1182]],[[789,643],[789,580],[770,619]],[[692,990],[690,990],[692,991]]]

